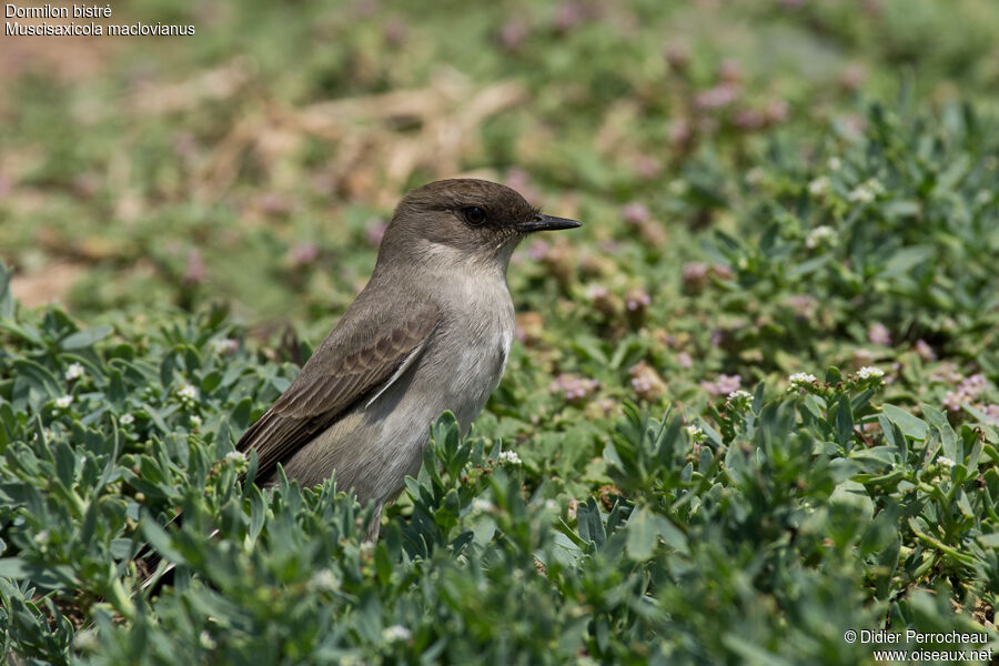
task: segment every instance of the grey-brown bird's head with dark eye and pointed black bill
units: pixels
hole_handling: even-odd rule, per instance
[[[536,231],[581,226],[543,215],[516,191],[474,179],[428,183],[403,198],[385,230],[379,264],[472,265],[506,271],[517,243]],[[404,259],[394,259],[395,256]]]

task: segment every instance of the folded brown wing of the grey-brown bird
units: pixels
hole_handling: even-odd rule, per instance
[[[392,312],[406,316],[391,321]],[[270,476],[278,463],[286,462],[354,404],[397,380],[423,351],[438,317],[437,306],[428,302],[350,309],[291,386],[236,444],[243,453],[256,451],[258,478]],[[351,325],[344,325],[349,319]]]

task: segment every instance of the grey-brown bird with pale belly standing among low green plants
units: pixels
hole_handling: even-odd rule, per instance
[[[444,180],[413,190],[385,230],[367,285],[291,386],[238,444],[256,451],[258,480],[280,463],[311,486],[382,507],[415,475],[430,425],[445,410],[462,433],[500,383],[514,335],[506,269],[536,231],[573,229],[504,185]]]

